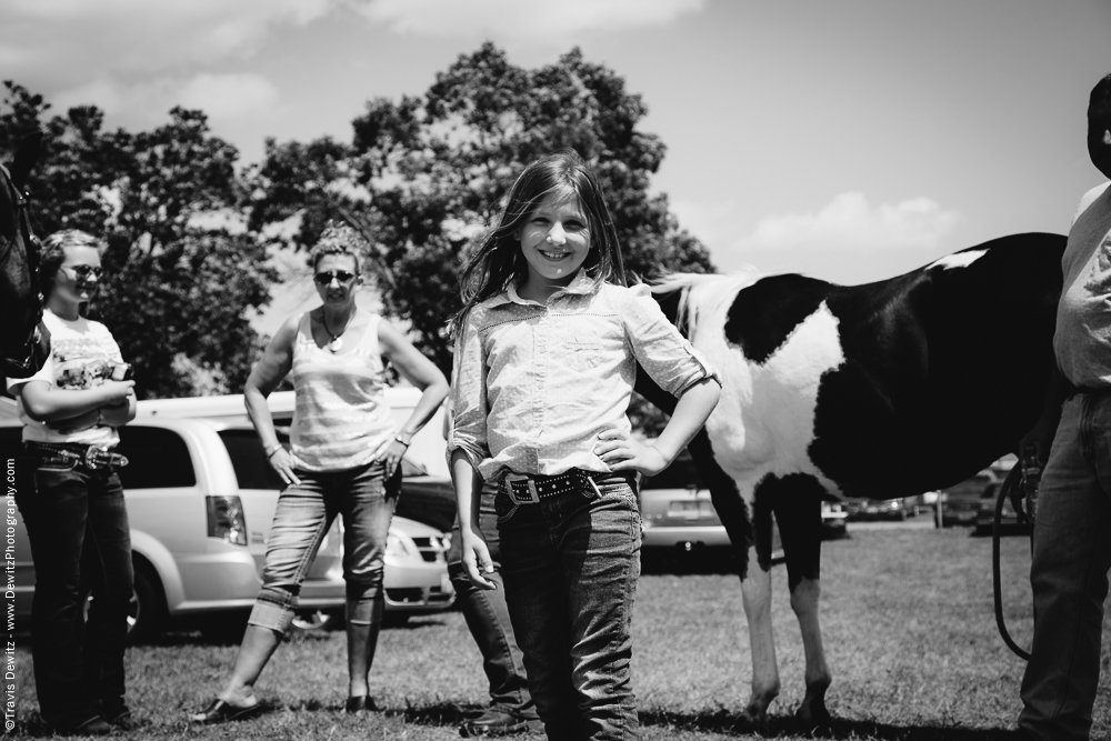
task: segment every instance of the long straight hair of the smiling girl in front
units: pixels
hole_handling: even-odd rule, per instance
[[[587,212],[590,252],[580,270],[587,271],[595,287],[603,282],[625,284],[621,246],[598,179],[578,152],[564,149],[527,167],[513,183],[498,228],[487,234],[463,268],[459,281],[463,308],[451,319],[452,333],[459,332],[476,304],[528,278],[529,266],[517,232],[548,194],[558,192],[577,196]]]

